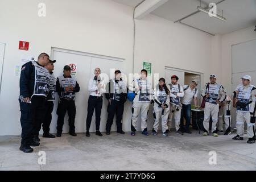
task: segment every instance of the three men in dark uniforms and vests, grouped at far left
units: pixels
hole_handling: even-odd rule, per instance
[[[65,113],[69,115],[69,134],[75,133],[75,93],[80,86],[75,77],[71,76],[71,68],[65,65],[63,76],[53,74],[54,63],[47,53],[41,53],[38,61],[29,61],[22,65],[20,73],[20,123],[22,126],[22,141],[20,150],[32,152],[33,148],[40,145],[39,131],[43,127],[43,138],[55,138],[49,133],[52,120],[52,111],[56,92],[59,94],[57,107],[57,135],[61,137]]]

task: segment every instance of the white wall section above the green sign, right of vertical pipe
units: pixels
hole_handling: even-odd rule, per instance
[[[135,72],[148,61],[160,77],[164,67],[209,74],[212,36],[151,14],[135,22]]]

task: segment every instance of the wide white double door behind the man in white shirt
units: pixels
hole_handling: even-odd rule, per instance
[[[52,49],[52,60],[56,60],[55,70],[53,71],[55,76],[63,75],[63,68],[65,65],[70,63],[77,64],[77,82],[80,85],[80,92],[76,93],[76,132],[77,133],[85,133],[86,130],[86,117],[87,117],[87,105],[88,105],[88,83],[89,79],[94,75],[94,69],[96,67],[101,68],[102,73],[106,73],[108,77],[110,77],[110,68],[120,69],[121,72],[123,70],[123,62],[117,61],[117,59],[111,60],[110,58],[95,57],[95,55],[90,55],[87,53],[76,52],[76,51],[67,51],[65,49]],[[108,82],[108,81],[106,81]],[[56,133],[57,126],[57,104],[59,97],[56,97],[55,106],[52,112],[52,122],[51,122],[51,133]],[[106,119],[108,117],[106,112],[107,103],[104,98],[104,105],[102,106],[102,114],[101,114],[101,131],[105,131]],[[113,131],[115,131],[115,125],[113,125]],[[63,133],[68,133],[68,114],[65,115]],[[92,118],[92,125],[90,127],[90,131],[95,131],[95,115]]]

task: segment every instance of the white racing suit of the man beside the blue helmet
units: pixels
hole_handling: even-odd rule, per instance
[[[139,86],[141,89],[139,89]],[[131,117],[131,131],[137,131],[139,114],[141,114],[141,130],[147,131],[147,114],[152,97],[151,84],[147,80],[139,78],[134,79],[129,88],[134,88],[136,94],[133,100],[133,107],[131,108],[131,112],[133,113]]]

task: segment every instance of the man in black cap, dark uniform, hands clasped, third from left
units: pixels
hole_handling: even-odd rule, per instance
[[[63,70],[64,75],[57,78],[56,92],[59,94],[59,105],[57,107],[57,135],[61,137],[62,128],[64,125],[64,117],[68,111],[69,134],[76,137],[75,133],[75,118],[76,105],[75,93],[80,91],[80,86],[75,77],[71,77],[71,67],[65,65]]]

